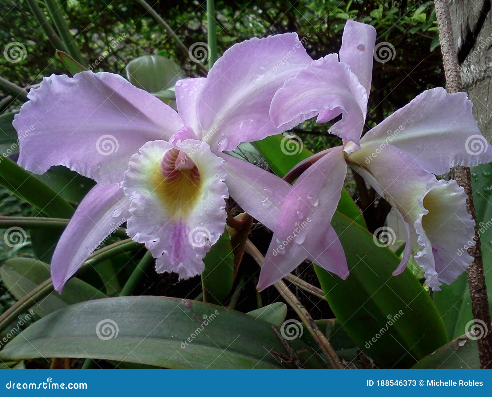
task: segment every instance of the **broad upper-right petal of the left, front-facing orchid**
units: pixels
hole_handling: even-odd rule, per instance
[[[311,63],[297,33],[251,38],[233,45],[210,69],[197,114],[212,149],[234,150],[282,132],[268,109],[284,81]]]

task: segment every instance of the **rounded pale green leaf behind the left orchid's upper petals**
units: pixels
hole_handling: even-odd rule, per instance
[[[180,66],[160,55],[143,55],[126,65],[126,75],[134,86],[150,93],[160,93],[174,87],[184,78]]]

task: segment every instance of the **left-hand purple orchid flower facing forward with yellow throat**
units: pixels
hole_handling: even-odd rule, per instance
[[[271,100],[311,62],[296,33],[246,40],[207,78],[176,83],[178,112],[116,74],[44,78],[13,123],[17,131],[33,126],[18,164],[34,173],[64,165],[97,182],[55,249],[55,289],[125,221],[128,235],[156,258],[157,272],[181,279],[203,271],[224,232],[229,194],[262,202],[259,218],[272,224],[281,192],[272,186],[290,186],[222,152],[284,131],[270,119]]]

